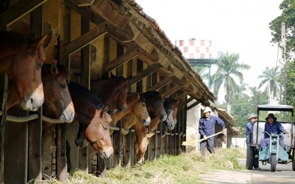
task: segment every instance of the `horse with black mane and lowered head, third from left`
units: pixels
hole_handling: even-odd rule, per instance
[[[75,106],[75,119],[79,121],[75,144],[83,148],[89,142],[100,157],[111,158],[114,149],[109,132],[112,118],[107,112],[108,106],[99,103],[92,92],[77,83],[70,82],[69,91]]]

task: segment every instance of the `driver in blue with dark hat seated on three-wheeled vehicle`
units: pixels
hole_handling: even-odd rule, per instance
[[[275,134],[280,134],[280,133],[288,133],[282,124],[277,121],[277,118],[274,117],[273,113],[269,113],[268,116],[266,117],[266,124],[265,124],[265,130],[268,133],[275,133]],[[279,144],[282,148],[284,148],[284,136],[280,135],[279,137]],[[264,150],[267,146],[269,145],[269,135],[265,133],[265,136],[263,139],[260,141],[260,147],[261,150]]]

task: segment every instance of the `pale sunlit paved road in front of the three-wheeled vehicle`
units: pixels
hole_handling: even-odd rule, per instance
[[[245,159],[240,159],[245,167]],[[270,172],[270,164],[262,165],[261,170],[217,171],[202,175],[205,184],[295,184],[295,171],[292,163],[277,164],[276,172]]]

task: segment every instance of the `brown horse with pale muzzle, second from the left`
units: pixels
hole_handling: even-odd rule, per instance
[[[71,123],[74,120],[74,105],[67,87],[68,71],[64,66],[43,64],[42,83],[44,88],[43,115]]]

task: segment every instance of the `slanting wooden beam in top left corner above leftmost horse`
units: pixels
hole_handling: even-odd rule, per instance
[[[18,3],[0,14],[0,29],[18,21],[46,1],[47,0],[30,0],[28,2],[27,0],[20,0]]]

